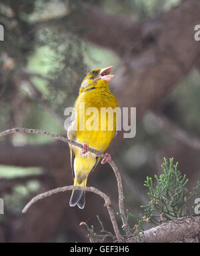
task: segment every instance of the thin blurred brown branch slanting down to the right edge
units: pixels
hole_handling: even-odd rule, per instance
[[[169,133],[181,141],[181,143],[185,143],[192,149],[200,150],[200,139],[198,137],[194,137],[181,129],[178,125],[173,123],[169,118],[167,118],[161,111],[152,110],[155,117],[159,120],[164,129],[169,131]]]

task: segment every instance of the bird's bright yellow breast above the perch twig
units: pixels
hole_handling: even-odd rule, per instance
[[[97,88],[81,93],[75,102],[69,139],[105,152],[116,132],[115,107],[117,100],[110,91]]]

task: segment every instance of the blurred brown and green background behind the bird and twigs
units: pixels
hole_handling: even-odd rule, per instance
[[[199,13],[197,0],[1,1],[0,131],[26,127],[65,135],[64,110],[73,106],[86,73],[113,65],[110,89],[120,107],[137,107],[135,138],[119,132],[108,150],[122,175],[125,209],[143,213],[144,180],[161,174],[163,157],[179,161],[190,190],[200,178]],[[41,135],[2,137],[0,242],[87,241],[79,223],[99,232],[97,214],[113,232],[103,200],[93,193],[83,210],[69,207],[66,192],[21,213],[35,195],[72,184],[65,143]],[[88,185],[107,193],[118,211],[109,165],[98,165]]]

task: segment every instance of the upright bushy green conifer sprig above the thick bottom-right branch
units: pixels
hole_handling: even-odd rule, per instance
[[[200,189],[200,183],[197,182],[197,187],[193,192],[188,192],[187,184],[188,179],[186,175],[181,175],[177,170],[178,163],[173,164],[173,158],[169,159],[169,163],[164,158],[164,163],[161,165],[163,174],[159,177],[155,175],[156,185],[153,184],[153,179],[147,177],[145,187],[149,188],[149,205],[142,205],[145,210],[144,215],[140,215],[139,224],[142,221],[159,225],[165,221],[176,219],[178,217],[189,216],[188,201],[197,195]]]

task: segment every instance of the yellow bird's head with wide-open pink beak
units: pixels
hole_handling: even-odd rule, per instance
[[[111,67],[105,67],[105,69],[93,69],[90,71],[81,83],[80,93],[90,89],[91,87],[107,87],[109,81],[113,79],[114,75],[110,75]]]

